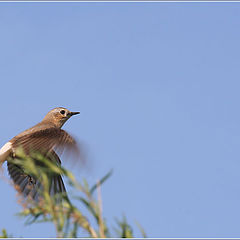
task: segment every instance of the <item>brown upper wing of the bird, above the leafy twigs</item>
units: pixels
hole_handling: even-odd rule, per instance
[[[74,153],[79,151],[74,138],[66,131],[55,127],[16,136],[10,140],[10,143],[13,150],[22,147],[26,154],[29,154],[31,151],[46,154],[53,149],[68,149]]]

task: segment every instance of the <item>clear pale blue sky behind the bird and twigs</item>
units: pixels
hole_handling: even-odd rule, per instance
[[[0,145],[51,108],[81,111],[64,129],[88,145],[80,178],[114,169],[112,225],[125,213],[149,237],[240,237],[239,29],[239,3],[1,3]],[[55,236],[0,189],[0,228]]]

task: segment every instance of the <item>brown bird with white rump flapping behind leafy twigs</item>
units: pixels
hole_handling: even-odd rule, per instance
[[[31,156],[30,153],[33,151],[41,153],[49,161],[61,164],[61,160],[56,153],[58,149],[79,151],[76,140],[61,129],[70,117],[79,113],[71,112],[64,107],[54,108],[45,115],[41,122],[16,135],[0,149],[0,165],[2,166],[7,161],[10,178],[22,196],[31,197],[38,201],[41,182],[25,173],[19,165],[14,164],[14,159],[17,159],[17,149],[21,147],[28,156]],[[66,194],[66,188],[60,174],[51,176],[49,193],[51,195]]]

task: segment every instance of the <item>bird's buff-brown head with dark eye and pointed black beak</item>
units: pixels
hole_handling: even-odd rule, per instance
[[[44,117],[44,122],[54,123],[56,127],[61,128],[63,124],[73,115],[79,114],[80,112],[71,112],[66,108],[57,107],[52,109]]]

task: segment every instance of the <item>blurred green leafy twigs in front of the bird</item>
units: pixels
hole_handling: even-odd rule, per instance
[[[94,186],[89,187],[86,180],[83,183],[79,183],[70,171],[49,161],[41,154],[32,153],[31,156],[26,156],[19,149],[17,158],[8,159],[8,161],[24,169],[29,176],[40,179],[42,183],[42,188],[39,189],[41,197],[38,201],[31,198],[21,198],[20,203],[23,206],[23,210],[19,215],[26,218],[27,224],[51,222],[55,226],[57,237],[82,237],[79,235],[80,231],[81,234],[84,231],[86,237],[91,238],[133,237],[132,228],[128,224],[126,217],[123,217],[122,220],[116,219],[117,227],[111,230],[102,214],[101,186],[109,179],[112,171],[107,173]],[[71,186],[74,193],[78,193],[71,196],[71,198],[81,203],[81,209],[86,209],[87,216],[83,215],[82,211],[69,200],[66,194],[50,195],[49,179],[54,174],[65,176],[68,185]],[[90,222],[90,218],[94,219],[94,224]],[[146,237],[142,227],[139,224],[137,226],[142,236]],[[5,230],[2,232],[2,237],[7,237]]]

